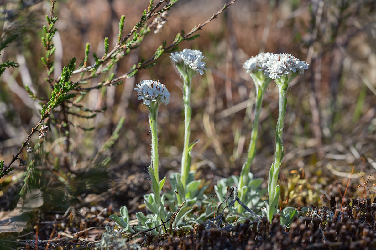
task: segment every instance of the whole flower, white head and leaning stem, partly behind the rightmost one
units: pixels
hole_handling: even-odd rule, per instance
[[[256,155],[256,144],[257,144],[257,134],[258,134],[258,126],[259,126],[259,117],[261,112],[261,103],[264,99],[264,94],[266,91],[266,88],[268,87],[269,82],[271,81],[271,78],[269,77],[269,73],[267,72],[266,68],[266,62],[270,57],[269,52],[261,52],[260,54],[256,55],[255,57],[249,58],[243,65],[244,69],[247,70],[247,73],[250,74],[250,76],[253,79],[253,82],[255,83],[256,87],[256,105],[255,105],[255,119],[252,123],[252,132],[251,132],[251,140],[249,143],[248,148],[248,156],[247,160],[244,163],[241,174],[239,178],[239,184],[238,184],[238,192],[240,193],[240,200],[243,203],[246,202],[246,196],[247,192],[250,192],[248,187],[248,174],[251,169],[251,164],[253,159]],[[243,212],[244,208],[238,204],[238,209],[240,210],[240,213]]]

